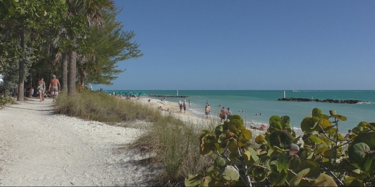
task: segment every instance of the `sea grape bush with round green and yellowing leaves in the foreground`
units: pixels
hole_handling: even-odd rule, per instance
[[[347,118],[314,108],[296,136],[288,116],[271,116],[269,129],[252,137],[238,115],[200,137],[201,155],[216,154],[210,167],[185,186],[372,186],[375,184],[375,123],[360,122],[339,134]],[[250,140],[255,138],[257,144]]]

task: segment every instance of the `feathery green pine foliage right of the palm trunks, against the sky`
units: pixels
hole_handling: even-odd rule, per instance
[[[121,22],[117,22],[119,11],[102,11],[105,28],[93,28],[88,36],[88,44],[94,47],[93,53],[80,56],[77,64],[78,80],[87,83],[111,85],[117,74],[124,70],[117,69],[117,62],[135,59],[143,54],[139,45],[132,42],[133,31],[123,31]],[[80,81],[81,84],[83,81]]]

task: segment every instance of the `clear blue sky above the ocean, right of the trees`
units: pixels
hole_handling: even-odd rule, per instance
[[[375,89],[375,1],[117,0],[144,56],[95,89]]]

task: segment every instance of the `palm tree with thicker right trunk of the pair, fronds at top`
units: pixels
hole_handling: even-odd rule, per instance
[[[113,9],[112,0],[67,0],[69,9],[68,17],[86,15],[87,27],[97,26],[104,28],[105,22],[102,18],[102,9]],[[71,36],[70,40],[74,41],[75,36]],[[76,82],[76,66],[77,53],[74,50],[69,50],[69,64],[68,64],[68,93],[75,93]],[[63,69],[64,71],[64,69]]]

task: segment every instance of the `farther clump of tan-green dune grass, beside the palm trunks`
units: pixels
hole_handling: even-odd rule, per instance
[[[75,96],[61,93],[55,103],[58,114],[80,117],[100,122],[123,122],[128,120],[157,121],[157,110],[106,93],[80,92]]]

